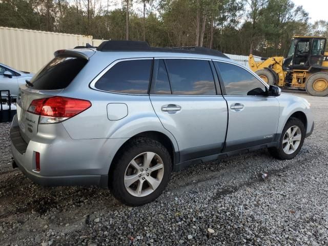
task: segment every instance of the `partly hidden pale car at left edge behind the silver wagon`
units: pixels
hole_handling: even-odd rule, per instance
[[[33,73],[18,71],[0,63],[0,90],[9,90],[15,99],[19,86],[24,85],[25,80],[30,80],[33,76]],[[1,95],[7,96],[7,92],[1,92]]]

